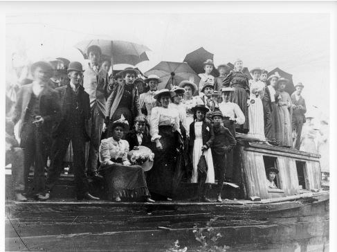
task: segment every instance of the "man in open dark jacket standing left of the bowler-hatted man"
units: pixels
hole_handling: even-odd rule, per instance
[[[44,193],[44,167],[51,129],[60,114],[57,91],[48,87],[53,68],[48,62],[35,62],[30,66],[33,83],[22,86],[17,94],[12,122],[21,119],[21,147],[24,150],[24,181],[28,188],[30,165],[34,167],[34,193],[37,197]]]

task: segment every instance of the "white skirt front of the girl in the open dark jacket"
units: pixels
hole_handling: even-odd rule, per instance
[[[198,183],[198,163],[202,153],[206,157],[207,163],[207,178],[205,183],[215,183],[215,173],[214,173],[214,165],[212,158],[212,151],[210,148],[208,150],[201,151],[201,147],[203,146],[202,138],[195,138],[193,145],[193,171],[192,171],[192,179],[191,183]]]

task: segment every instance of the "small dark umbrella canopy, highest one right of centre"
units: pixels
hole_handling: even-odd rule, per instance
[[[213,57],[213,53],[210,53],[205,48],[201,47],[195,51],[192,51],[192,53],[188,53],[183,61],[187,62],[192,67],[192,69],[199,74],[205,73],[205,70],[203,70],[203,62],[206,62],[208,59],[213,60]],[[215,67],[211,74],[215,77],[219,76],[219,72],[217,69],[215,69]]]

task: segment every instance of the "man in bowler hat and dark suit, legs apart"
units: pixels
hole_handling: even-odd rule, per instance
[[[71,141],[73,145],[73,170],[75,174],[76,195],[78,199],[98,200],[89,194],[89,186],[84,171],[85,143],[90,140],[90,103],[89,95],[80,85],[83,70],[80,62],[69,64],[68,75],[70,83],[55,89],[62,102],[62,116],[53,130],[53,145],[51,147],[51,166],[46,181],[46,195],[39,197],[46,200],[62,172],[62,163]]]

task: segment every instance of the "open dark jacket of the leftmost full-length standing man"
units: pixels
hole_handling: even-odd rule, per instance
[[[26,128],[26,113],[28,104],[33,93],[33,84],[26,84],[19,89],[17,93],[17,102],[13,112],[12,121],[14,124],[21,119],[21,127],[19,129],[19,136],[24,136],[24,129]],[[60,116],[60,102],[57,91],[46,86],[42,89],[39,95],[39,110],[40,116],[44,118],[42,125],[42,134],[46,136],[51,135],[52,128]]]

